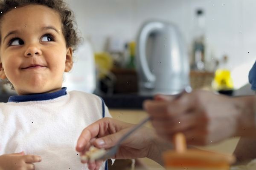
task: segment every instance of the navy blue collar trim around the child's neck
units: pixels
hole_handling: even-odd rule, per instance
[[[62,95],[66,95],[67,87],[62,87],[61,90],[52,93],[40,93],[34,95],[12,95],[9,97],[8,102],[24,102],[24,101],[44,101],[54,98],[58,98]]]

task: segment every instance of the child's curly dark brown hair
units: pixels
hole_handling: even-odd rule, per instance
[[[43,5],[55,10],[60,14],[62,31],[66,41],[66,47],[71,47],[73,52],[81,42],[82,38],[78,34],[76,20],[73,11],[67,6],[63,0],[0,0],[0,24],[4,14],[14,8],[26,5]],[[1,27],[0,27],[1,28]],[[0,36],[1,42],[1,36]],[[8,79],[1,81],[1,84],[10,84],[14,90],[13,85]]]

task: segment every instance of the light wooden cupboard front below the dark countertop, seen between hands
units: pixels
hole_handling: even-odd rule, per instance
[[[110,109],[110,114],[112,115],[113,118],[117,120],[132,123],[132,124],[138,124],[141,120],[143,120],[143,118],[146,118],[148,116],[147,113],[143,110],[129,110],[129,109]],[[152,127],[150,122],[145,124],[145,126]],[[203,150],[212,150],[220,153],[232,154],[233,151],[235,150],[235,147],[238,141],[239,141],[239,138],[236,137],[236,138],[227,139],[225,141],[222,141],[216,144],[209,144],[207,146],[198,147],[198,148]],[[140,158],[139,160],[149,167],[148,170],[164,170],[164,168],[161,165],[157,164],[155,161],[152,161],[151,159]]]

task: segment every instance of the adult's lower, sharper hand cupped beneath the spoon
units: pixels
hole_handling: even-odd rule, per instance
[[[84,154],[92,145],[98,148],[109,149],[115,146],[122,135],[133,126],[134,124],[125,123],[113,118],[102,118],[82,131],[77,141],[76,150],[80,154]],[[154,137],[154,130],[141,127],[121,144],[116,155],[112,158],[150,157],[151,152],[153,152]],[[97,170],[102,162],[82,161],[82,163],[88,163],[90,170]]]

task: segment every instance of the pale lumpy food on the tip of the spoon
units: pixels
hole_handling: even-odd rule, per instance
[[[96,159],[102,157],[106,153],[105,149],[99,149],[91,146],[89,150],[81,156],[82,161],[95,161]]]

